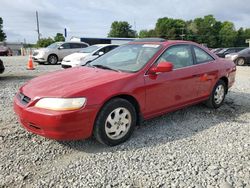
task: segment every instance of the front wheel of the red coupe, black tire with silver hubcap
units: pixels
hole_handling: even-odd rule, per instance
[[[112,99],[96,118],[94,137],[108,146],[121,144],[132,135],[136,119],[136,110],[130,102],[121,98]]]

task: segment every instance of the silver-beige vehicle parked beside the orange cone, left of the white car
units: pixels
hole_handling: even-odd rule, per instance
[[[57,64],[57,62],[61,61],[65,56],[78,52],[88,46],[87,43],[83,42],[56,42],[47,48],[35,50],[32,58],[38,63],[48,62],[49,64]]]

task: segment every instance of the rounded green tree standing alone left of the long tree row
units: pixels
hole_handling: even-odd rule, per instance
[[[136,31],[131,29],[132,26],[125,21],[114,21],[111,24],[111,29],[108,33],[108,37],[125,37],[134,38],[136,37]]]

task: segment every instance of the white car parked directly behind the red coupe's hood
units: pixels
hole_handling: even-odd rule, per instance
[[[73,53],[63,58],[62,68],[71,68],[84,66],[87,63],[97,59],[103,54],[115,49],[118,45],[115,44],[96,44],[82,49],[77,53]]]

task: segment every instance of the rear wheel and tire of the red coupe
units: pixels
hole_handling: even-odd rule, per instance
[[[210,108],[219,108],[225,99],[227,86],[223,80],[219,80],[210,94],[209,99],[206,101],[206,105]]]

